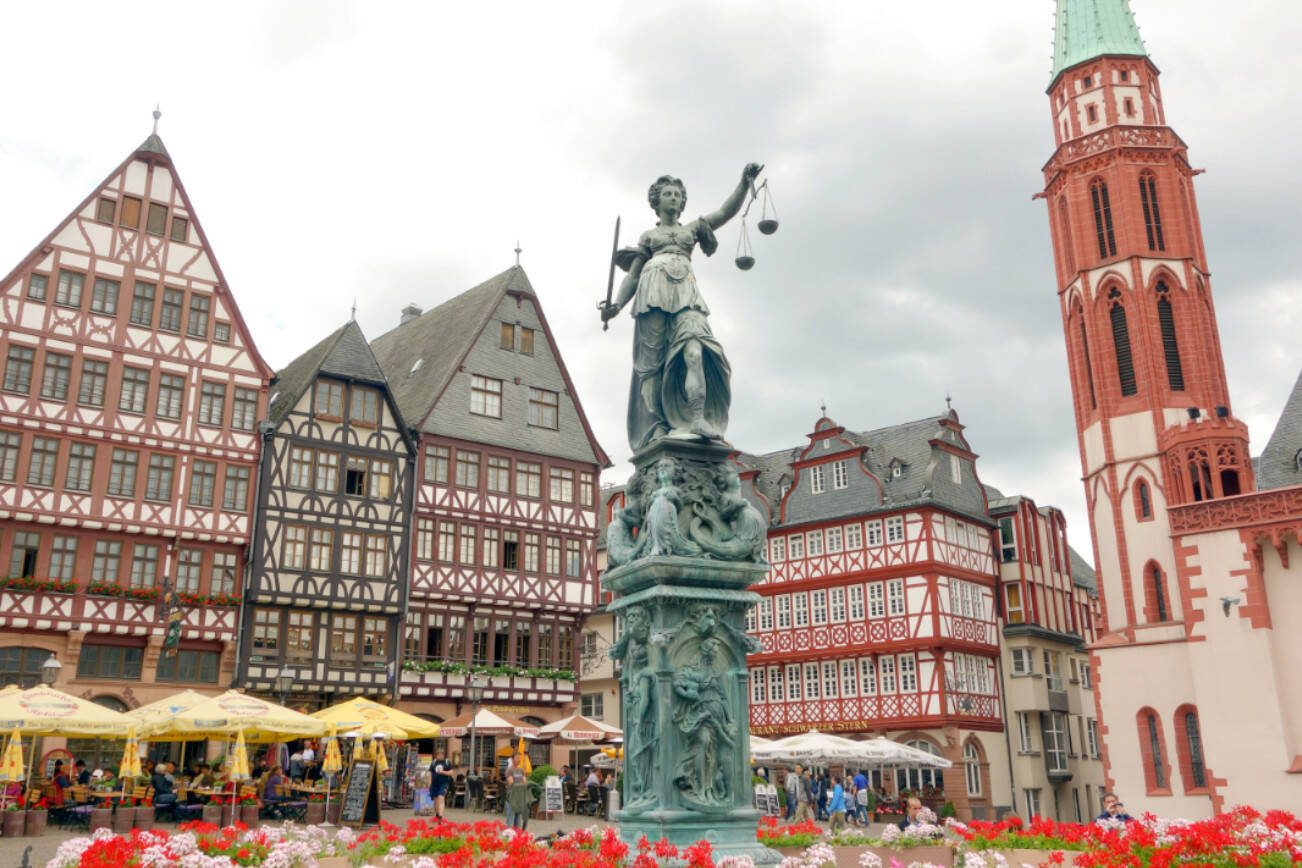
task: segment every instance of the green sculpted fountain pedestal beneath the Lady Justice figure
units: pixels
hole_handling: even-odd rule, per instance
[[[678,550],[691,550],[691,519],[717,493],[702,496],[702,491],[721,478],[730,452],[725,445],[661,440],[635,455],[638,475],[630,493],[639,497],[633,509],[641,532],[669,539],[650,518],[658,509],[651,485],[658,484],[656,496],[678,496],[676,531],[684,540]],[[663,495],[671,488],[665,459],[673,466],[677,495]],[[652,483],[656,474],[659,481]],[[704,539],[699,526],[697,537]],[[728,532],[713,532],[706,544],[728,539]],[[608,609],[624,627],[612,649],[624,661],[625,739],[624,807],[613,819],[630,847],[642,835],[652,843],[665,838],[680,848],[704,839],[716,859],[780,860],[755,838],[759,812],[753,807],[750,770],[746,653],[755,648],[745,617],[759,600],[747,588],[767,569],[763,562],[721,560],[704,550],[643,549],[602,579],[616,596]]]

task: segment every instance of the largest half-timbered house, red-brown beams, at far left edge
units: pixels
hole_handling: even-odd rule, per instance
[[[0,364],[4,678],[57,653],[113,707],[229,683],[271,370],[156,134],[0,280]]]

